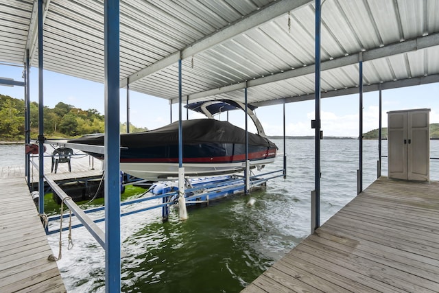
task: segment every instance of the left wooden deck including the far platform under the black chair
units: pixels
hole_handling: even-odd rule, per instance
[[[38,165],[38,158],[33,159]],[[38,184],[38,169],[31,165],[31,183]],[[93,169],[92,169],[93,168]],[[51,173],[51,157],[45,156],[45,174],[52,180],[102,176],[102,163],[88,156],[73,156]],[[38,211],[25,181],[24,165],[0,168],[0,292],[66,292]],[[56,251],[58,253],[58,251]]]

